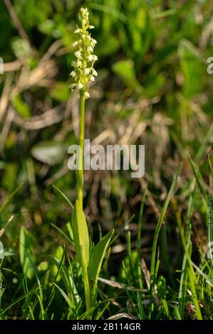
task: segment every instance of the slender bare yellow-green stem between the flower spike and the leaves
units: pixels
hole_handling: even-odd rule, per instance
[[[83,92],[80,92],[80,137],[79,137],[79,168],[77,170],[77,183],[78,183],[78,202],[80,208],[83,209],[83,152],[84,152],[84,115],[85,115],[85,99],[83,97]]]

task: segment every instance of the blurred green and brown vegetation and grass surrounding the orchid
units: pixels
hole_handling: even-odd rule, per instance
[[[87,317],[66,230],[71,206],[53,188],[74,203],[76,175],[68,171],[67,149],[78,142],[78,97],[68,85],[80,6],[90,11],[99,59],[85,138],[146,146],[144,178],[133,180],[128,171],[85,173],[90,232],[95,242],[100,231],[114,228],[116,236],[99,281],[96,317],[211,319],[210,0],[0,2],[0,317]]]

